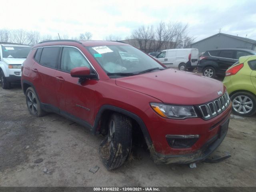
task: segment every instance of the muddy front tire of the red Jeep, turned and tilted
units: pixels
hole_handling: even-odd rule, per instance
[[[122,114],[113,113],[108,121],[108,135],[100,144],[100,157],[104,166],[108,170],[120,167],[128,157],[131,145],[131,120]]]

